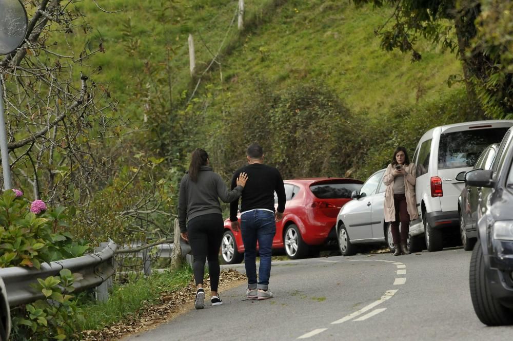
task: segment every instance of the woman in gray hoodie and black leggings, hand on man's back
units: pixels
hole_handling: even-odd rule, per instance
[[[189,241],[194,256],[194,280],[196,298],[194,307],[205,307],[203,274],[205,259],[208,259],[212,306],[223,304],[218,294],[219,285],[219,248],[223,240],[224,223],[219,199],[228,203],[239,199],[248,177],[241,173],[237,186],[228,191],[221,176],[209,166],[208,154],[201,148],[192,152],[189,172],[180,182],[178,220],[182,238]]]

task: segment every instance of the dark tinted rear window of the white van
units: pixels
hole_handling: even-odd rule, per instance
[[[438,146],[438,169],[473,167],[484,148],[501,142],[507,130],[504,127],[442,134]]]

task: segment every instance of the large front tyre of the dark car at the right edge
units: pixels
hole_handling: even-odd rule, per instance
[[[478,241],[470,258],[470,297],[472,305],[482,323],[488,326],[513,324],[513,311],[502,306],[492,295],[484,262],[481,241]]]

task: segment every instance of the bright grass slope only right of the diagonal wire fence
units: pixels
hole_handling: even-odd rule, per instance
[[[287,2],[232,51],[224,68],[238,80],[262,75],[284,87],[322,79],[356,111],[438,97],[447,77],[461,72],[459,62],[428,44],[420,63],[383,51],[373,29],[388,14],[349,1]]]

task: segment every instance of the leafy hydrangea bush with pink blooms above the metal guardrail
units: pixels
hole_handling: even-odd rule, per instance
[[[13,191],[0,197],[0,268],[34,267],[83,255],[89,246],[67,231],[65,207],[34,214],[30,202]]]

